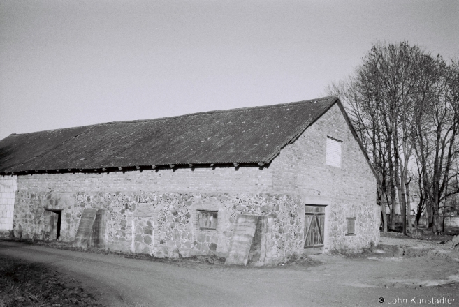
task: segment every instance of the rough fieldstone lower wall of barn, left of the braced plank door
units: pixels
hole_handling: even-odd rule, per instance
[[[155,257],[214,254],[226,257],[238,214],[268,216],[265,263],[303,249],[304,209],[298,197],[242,193],[79,192],[17,193],[15,227],[22,237],[44,239],[44,209],[62,209],[61,237],[73,241],[85,208],[105,209],[111,250]],[[198,210],[218,211],[217,230],[200,230]],[[302,221],[303,218],[303,221]]]

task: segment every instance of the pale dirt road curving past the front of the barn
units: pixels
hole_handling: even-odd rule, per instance
[[[318,255],[322,264],[313,267],[265,268],[151,262],[13,241],[0,242],[0,254],[77,278],[107,306],[414,306],[413,298],[416,306],[459,306],[459,259],[449,250],[370,259]],[[429,304],[432,298],[451,303]]]

